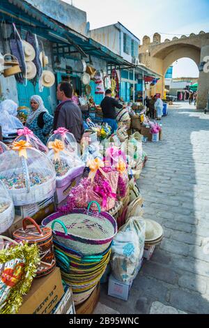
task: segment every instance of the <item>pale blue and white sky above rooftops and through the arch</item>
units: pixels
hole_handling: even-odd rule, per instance
[[[71,0],[65,0],[71,3]],[[121,22],[142,40],[155,32],[162,33],[162,40],[173,36],[209,32],[209,0],[72,0],[75,7],[87,13],[91,29]],[[169,35],[171,34],[171,35]],[[180,73],[185,76],[188,67],[196,76],[196,66],[185,61]]]

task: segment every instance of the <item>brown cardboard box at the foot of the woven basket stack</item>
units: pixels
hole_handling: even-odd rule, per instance
[[[100,299],[100,283],[84,303],[75,306],[76,314],[92,314]]]

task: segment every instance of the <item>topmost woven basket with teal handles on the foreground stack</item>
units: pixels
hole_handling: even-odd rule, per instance
[[[99,212],[90,211],[92,203],[88,204],[87,210],[74,209],[67,215],[56,212],[45,218],[42,225],[52,228],[57,241],[83,255],[102,253],[111,244],[117,232],[117,223],[109,213],[100,212],[98,203]]]

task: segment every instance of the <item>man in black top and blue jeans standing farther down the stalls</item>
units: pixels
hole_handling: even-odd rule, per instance
[[[123,105],[118,103],[116,99],[111,98],[111,90],[107,89],[100,106],[102,107],[103,121],[111,126],[111,133],[114,133],[118,128],[116,122],[116,108],[121,109]]]

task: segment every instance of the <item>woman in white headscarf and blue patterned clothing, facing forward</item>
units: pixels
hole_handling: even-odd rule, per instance
[[[49,134],[52,131],[54,117],[45,108],[42,98],[34,95],[31,97],[31,114],[29,114],[25,126],[47,144]]]

